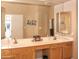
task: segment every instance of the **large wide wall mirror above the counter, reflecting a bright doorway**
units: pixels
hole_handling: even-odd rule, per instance
[[[32,38],[34,35],[54,36],[54,19],[53,16],[50,18],[50,6],[2,2],[2,7],[5,9],[5,15],[2,15],[5,31],[2,33],[5,34],[1,37],[22,39]]]

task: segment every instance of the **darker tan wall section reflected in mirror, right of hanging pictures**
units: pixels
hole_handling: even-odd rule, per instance
[[[49,8],[39,6],[38,34],[41,36],[48,35]]]

